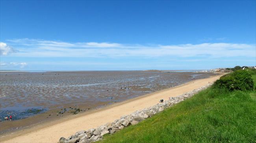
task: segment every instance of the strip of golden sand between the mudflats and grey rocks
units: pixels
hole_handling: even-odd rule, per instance
[[[210,82],[214,82],[221,75],[211,76],[200,80],[190,81],[183,85],[165,89],[162,91],[140,96],[131,100],[115,103],[102,109],[84,114],[69,116],[58,121],[35,125],[31,128],[4,134],[0,138],[3,143],[56,143],[59,138],[68,137],[79,130],[87,130],[112,122],[121,116],[130,114],[136,110],[156,105],[160,99],[167,100],[184,92],[193,91]]]

